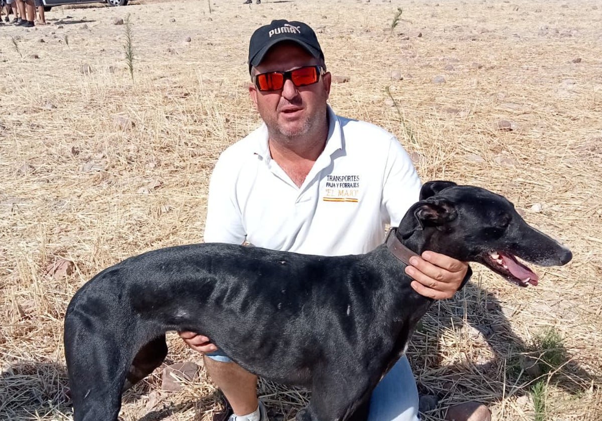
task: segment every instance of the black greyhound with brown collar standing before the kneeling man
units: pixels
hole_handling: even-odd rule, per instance
[[[311,389],[300,421],[349,420],[432,303],[410,286],[405,247],[482,263],[519,286],[538,277],[515,256],[543,266],[572,257],[506,198],[442,181],[426,183],[399,228],[367,254],[193,244],[131,257],[88,281],[67,308],[75,421],[117,420],[122,390],[161,364],[170,330],[204,334],[250,372]]]

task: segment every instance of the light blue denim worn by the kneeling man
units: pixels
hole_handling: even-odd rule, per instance
[[[205,354],[212,360],[228,363],[232,360],[217,350]],[[417,421],[418,389],[408,358],[399,358],[372,392],[368,421]]]

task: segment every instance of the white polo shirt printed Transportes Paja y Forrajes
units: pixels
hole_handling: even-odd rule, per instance
[[[328,107],[326,147],[297,187],[274,161],[263,124],[228,147],[209,183],[205,242],[323,256],[367,253],[385,224],[418,200],[420,179],[399,141]]]

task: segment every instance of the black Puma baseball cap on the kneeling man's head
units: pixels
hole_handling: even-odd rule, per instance
[[[314,29],[303,22],[288,20],[272,20],[270,25],[256,29],[249,41],[249,73],[251,67],[257,66],[270,48],[281,41],[294,41],[315,58],[324,60],[324,53],[315,36]]]

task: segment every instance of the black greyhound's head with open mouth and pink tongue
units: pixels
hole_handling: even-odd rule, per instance
[[[420,231],[420,235],[415,236]],[[539,277],[517,256],[541,266],[568,263],[573,254],[539,232],[501,195],[448,181],[426,183],[400,223],[402,238],[420,238],[432,250],[465,262],[479,262],[520,286]]]

